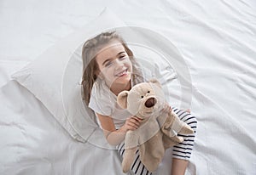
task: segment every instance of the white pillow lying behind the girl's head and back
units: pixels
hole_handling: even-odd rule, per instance
[[[73,138],[105,148],[113,147],[107,144],[94,113],[87,110],[81,95],[84,41],[115,28],[138,57],[147,79],[156,77],[162,84],[177,77],[171,63],[180,67],[177,62],[183,60],[177,48],[159,34],[139,27],[120,26],[125,23],[106,8],[96,20],[57,42],[12,76],[45,105]]]

